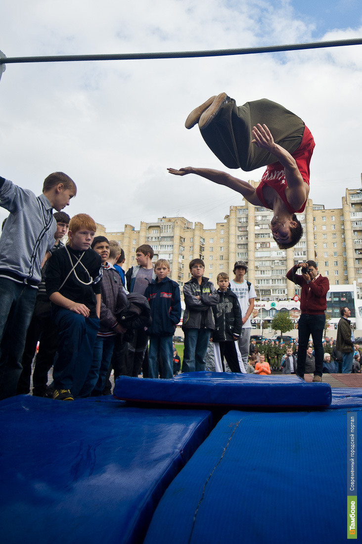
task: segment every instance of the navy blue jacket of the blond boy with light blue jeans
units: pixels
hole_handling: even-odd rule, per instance
[[[150,335],[173,336],[181,319],[181,300],[179,284],[169,277],[156,282],[152,280],[145,290],[145,297],[151,307],[152,325]]]

